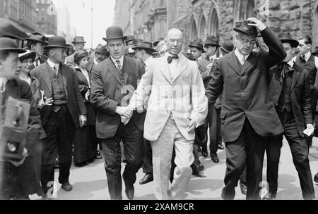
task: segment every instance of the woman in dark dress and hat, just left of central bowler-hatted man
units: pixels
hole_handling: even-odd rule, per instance
[[[88,165],[96,157],[98,139],[95,132],[96,113],[90,105],[90,73],[86,70],[88,66],[88,53],[86,51],[76,52],[74,63],[76,63],[76,77],[78,87],[85,101],[87,110],[87,124],[74,133],[73,162],[76,166]]]

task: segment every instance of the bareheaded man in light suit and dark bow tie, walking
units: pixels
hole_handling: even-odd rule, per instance
[[[142,112],[143,99],[150,94],[144,137],[151,141],[153,149],[153,181],[159,200],[184,197],[194,161],[194,128],[208,113],[198,66],[181,53],[182,32],[173,28],[167,33],[166,42],[168,53],[149,63],[129,105]],[[169,189],[174,147],[177,167]]]

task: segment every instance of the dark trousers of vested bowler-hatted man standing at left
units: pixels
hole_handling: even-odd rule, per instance
[[[72,138],[74,123],[66,106],[57,113],[53,112],[43,125],[47,138],[42,145],[42,189],[47,193],[54,183],[54,160],[59,156],[59,183],[69,182],[69,170],[72,163]],[[51,188],[53,191],[53,188]],[[50,192],[52,194],[52,192]]]

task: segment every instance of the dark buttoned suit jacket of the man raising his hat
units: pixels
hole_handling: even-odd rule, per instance
[[[269,52],[250,53],[240,70],[234,51],[216,61],[216,69],[208,84],[206,96],[215,103],[223,91],[223,106],[220,112],[221,127],[225,142],[235,141],[242,131],[245,119],[262,137],[283,132],[273,103],[269,99],[269,68],[285,58],[281,41],[266,28],[261,32]],[[224,88],[224,90],[223,90]]]

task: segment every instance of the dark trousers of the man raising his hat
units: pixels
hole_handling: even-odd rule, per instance
[[[247,199],[260,199],[262,169],[266,137],[257,134],[249,120],[245,119],[240,136],[232,142],[225,142],[226,173],[223,199],[234,199],[235,187],[247,167]]]

